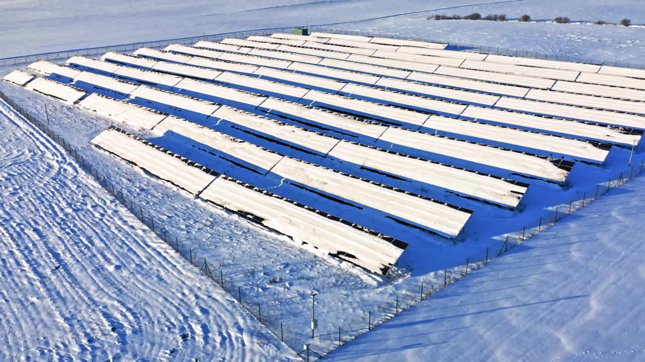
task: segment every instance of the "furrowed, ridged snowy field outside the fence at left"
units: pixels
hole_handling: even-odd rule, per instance
[[[284,361],[293,351],[0,103],[1,361]]]

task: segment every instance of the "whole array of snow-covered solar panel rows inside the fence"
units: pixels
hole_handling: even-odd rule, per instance
[[[600,166],[612,146],[635,146],[645,129],[645,71],[445,48],[275,33],[37,61],[4,79],[119,127],[201,145],[199,157],[255,176],[237,180],[116,127],[92,141],[204,200],[385,274],[415,241],[361,220],[455,238],[473,213],[460,204],[515,209],[531,183],[564,185],[577,161]],[[221,123],[250,138],[213,127]],[[272,177],[308,198],[263,189],[260,180]],[[397,188],[402,182],[435,197]],[[336,206],[317,209],[325,202]],[[357,210],[356,220],[341,218],[342,207]]]

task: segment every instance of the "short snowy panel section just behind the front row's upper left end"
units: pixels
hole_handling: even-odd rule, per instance
[[[137,106],[123,100],[105,97],[97,93],[90,94],[89,97],[81,100],[79,106],[134,128],[150,129],[166,118],[166,113]]]

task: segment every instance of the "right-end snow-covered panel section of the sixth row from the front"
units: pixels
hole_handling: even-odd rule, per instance
[[[557,119],[529,115],[526,113],[495,110],[493,108],[470,106],[461,113],[462,117],[471,119],[489,120],[501,124],[510,124],[522,128],[538,129],[547,133],[559,133],[581,138],[591,138],[616,144],[638,143],[640,135],[630,134],[617,128],[577,122],[575,120]]]

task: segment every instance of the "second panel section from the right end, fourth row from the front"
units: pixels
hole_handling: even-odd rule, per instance
[[[379,138],[383,131],[387,129],[387,126],[383,124],[366,122],[332,111],[319,110],[318,108],[312,108],[282,99],[267,99],[259,109],[285,118],[301,119],[322,124],[323,126],[332,126],[372,138]]]

